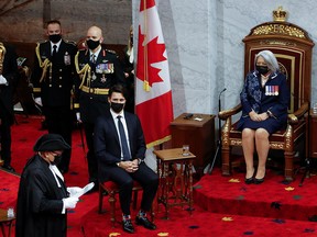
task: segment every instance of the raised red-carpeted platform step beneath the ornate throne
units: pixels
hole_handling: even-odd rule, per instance
[[[266,170],[262,184],[245,184],[244,173],[222,177],[216,169],[195,184],[194,202],[212,213],[308,221],[317,214],[317,177],[306,179],[298,187],[300,176],[291,183],[283,182],[283,174]]]

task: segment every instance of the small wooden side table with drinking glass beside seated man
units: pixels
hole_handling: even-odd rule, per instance
[[[188,205],[193,211],[193,160],[196,156],[189,153],[183,156],[183,148],[154,150],[157,160],[160,187],[157,204],[165,206],[168,219],[170,207]]]

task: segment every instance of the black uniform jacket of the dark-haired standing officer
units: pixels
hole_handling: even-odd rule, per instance
[[[52,57],[51,43],[37,45],[34,70],[32,74],[34,97],[41,97],[43,106],[70,108],[70,90],[74,84],[74,58],[77,53],[75,44],[62,40],[56,57]]]

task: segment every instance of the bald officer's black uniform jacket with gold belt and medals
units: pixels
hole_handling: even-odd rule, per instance
[[[124,84],[122,64],[114,52],[101,48],[96,63],[90,61],[88,49],[75,57],[79,80],[76,82],[75,109],[83,122],[95,123],[109,110],[108,90],[116,83]]]

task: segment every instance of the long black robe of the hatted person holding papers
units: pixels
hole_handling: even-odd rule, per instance
[[[34,155],[23,169],[17,206],[17,237],[63,237],[67,234],[67,216],[62,214],[66,187],[48,163]]]

